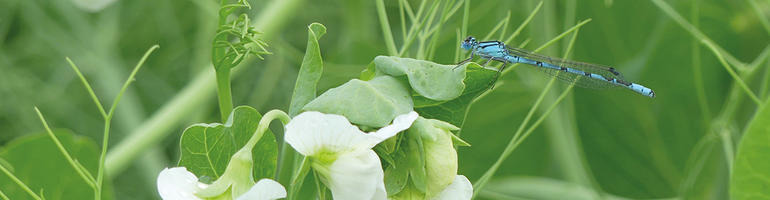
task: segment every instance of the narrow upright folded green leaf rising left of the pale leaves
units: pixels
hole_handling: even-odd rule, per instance
[[[326,34],[326,27],[319,23],[312,23],[307,27],[307,47],[305,57],[297,75],[297,83],[294,85],[294,93],[291,95],[289,116],[299,114],[302,107],[316,97],[316,85],[323,73],[323,60],[318,39]]]

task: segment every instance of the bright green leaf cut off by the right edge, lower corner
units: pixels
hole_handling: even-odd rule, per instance
[[[730,199],[770,198],[770,101],[757,112],[738,145]]]

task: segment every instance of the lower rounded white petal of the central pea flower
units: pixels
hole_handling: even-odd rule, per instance
[[[372,150],[344,153],[329,167],[328,185],[335,200],[386,199],[380,158]]]

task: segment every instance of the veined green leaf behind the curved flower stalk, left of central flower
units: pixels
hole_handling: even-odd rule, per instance
[[[195,124],[182,133],[179,166],[201,177],[214,181],[225,171],[230,157],[243,147],[257,129],[262,115],[254,108],[239,106],[233,109],[227,123]],[[254,180],[272,178],[278,161],[278,145],[269,130],[252,150]]]

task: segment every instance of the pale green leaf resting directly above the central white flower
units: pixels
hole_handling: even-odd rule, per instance
[[[369,81],[353,79],[318,96],[303,110],[338,114],[350,122],[383,127],[398,115],[412,111],[412,98],[403,83],[390,76]]]

